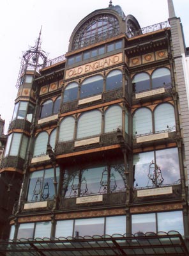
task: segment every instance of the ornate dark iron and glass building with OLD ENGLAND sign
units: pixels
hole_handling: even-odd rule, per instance
[[[22,184],[0,252],[188,255],[186,47],[168,5],[140,28],[110,1],[64,56],[47,61],[40,36],[25,52],[1,163]]]

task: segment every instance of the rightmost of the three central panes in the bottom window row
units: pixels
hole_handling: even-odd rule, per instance
[[[114,216],[106,218],[105,234],[112,236],[113,234],[126,233],[126,216]]]

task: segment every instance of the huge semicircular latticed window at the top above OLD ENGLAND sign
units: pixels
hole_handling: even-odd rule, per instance
[[[72,49],[78,49],[104,40],[119,32],[119,21],[113,15],[98,15],[87,20],[73,38]]]

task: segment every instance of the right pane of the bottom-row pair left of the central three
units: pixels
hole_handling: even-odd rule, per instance
[[[34,232],[34,238],[40,237],[49,237],[50,238],[50,229],[51,229],[51,222],[44,221],[44,222],[37,222]]]

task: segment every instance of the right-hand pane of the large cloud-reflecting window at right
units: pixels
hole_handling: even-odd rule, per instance
[[[160,167],[163,184],[179,182],[178,148],[167,148],[156,151],[156,164]]]

